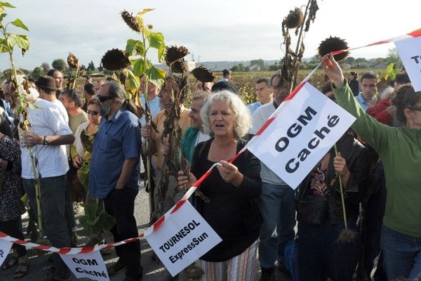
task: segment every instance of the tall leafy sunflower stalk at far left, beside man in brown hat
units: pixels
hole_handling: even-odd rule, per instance
[[[0,27],[1,27],[1,34],[3,35],[3,38],[4,38],[4,42],[3,42],[3,44],[5,45],[4,50],[6,50],[6,52],[8,53],[8,58],[11,63],[11,70],[12,70],[12,76],[13,76],[12,81],[11,81],[12,88],[14,84],[16,86],[17,98],[20,103],[20,106],[18,107],[18,112],[17,112],[18,116],[22,116],[20,126],[23,129],[23,131],[27,133],[29,132],[29,126],[30,126],[29,120],[27,119],[27,107],[29,107],[29,105],[27,104],[27,101],[25,99],[26,93],[22,91],[22,86],[20,86],[19,84],[18,72],[16,70],[15,62],[13,60],[13,48],[16,45],[18,45],[18,47],[22,49],[22,55],[23,55],[29,48],[29,40],[27,39],[25,35],[8,33],[7,27],[9,24],[12,24],[12,25],[15,25],[16,27],[22,28],[23,30],[26,30],[26,31],[29,31],[29,30],[19,19],[16,19],[13,22],[8,22],[8,24],[4,25],[3,19],[6,17],[6,13],[4,13],[4,7],[8,7],[8,8],[15,8],[15,7],[12,6],[11,4],[8,4],[7,2],[1,2],[0,13],[2,17],[0,20]],[[25,41],[18,42],[14,39],[15,37],[20,37],[20,39],[25,39]],[[35,180],[36,209],[38,212],[38,217],[37,217],[38,228],[39,228],[39,232],[41,233],[41,237],[44,237],[44,227],[43,227],[43,222],[42,222],[43,220],[42,220],[42,209],[41,209],[41,188],[40,188],[41,185],[39,183],[38,173],[36,172],[37,161],[34,157],[32,147],[29,147],[28,150],[29,150],[29,157],[31,158],[31,167],[32,167],[32,172],[34,174],[34,180]]]

